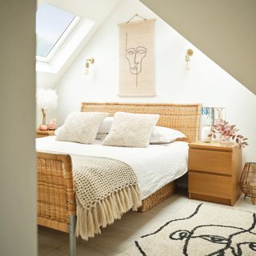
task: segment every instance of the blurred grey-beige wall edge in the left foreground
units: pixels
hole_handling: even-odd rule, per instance
[[[0,1],[0,255],[37,255],[36,2]]]

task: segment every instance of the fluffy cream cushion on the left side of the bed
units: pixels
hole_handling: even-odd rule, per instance
[[[68,115],[64,125],[58,130],[56,140],[92,144],[99,126],[107,115],[107,113],[97,112],[73,112]]]

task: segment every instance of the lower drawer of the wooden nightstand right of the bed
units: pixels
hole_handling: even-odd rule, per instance
[[[219,198],[232,197],[232,178],[190,171],[189,191]]]

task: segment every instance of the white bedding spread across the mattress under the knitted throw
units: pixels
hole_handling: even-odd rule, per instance
[[[55,136],[49,136],[37,138],[36,149],[41,152],[102,156],[126,162],[133,168],[138,178],[142,199],[187,172],[188,145],[186,142],[131,148],[102,146],[99,140],[96,140],[93,145],[59,142],[55,140]]]

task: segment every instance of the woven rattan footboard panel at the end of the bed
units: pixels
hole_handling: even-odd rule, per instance
[[[72,163],[68,154],[37,154],[38,224],[69,232],[76,214]]]

